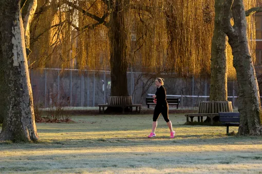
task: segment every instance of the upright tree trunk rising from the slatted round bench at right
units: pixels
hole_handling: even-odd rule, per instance
[[[211,86],[210,101],[228,100],[227,35],[221,25],[223,0],[215,1],[215,26],[211,46]]]

